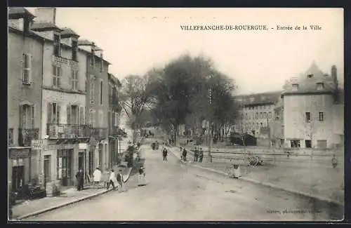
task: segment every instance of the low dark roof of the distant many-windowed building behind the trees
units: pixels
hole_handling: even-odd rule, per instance
[[[282,91],[238,95],[234,97],[234,100],[246,106],[275,104],[279,100],[281,94]],[[241,98],[241,101],[238,98]]]

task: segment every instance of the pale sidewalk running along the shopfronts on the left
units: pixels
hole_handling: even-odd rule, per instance
[[[133,168],[128,168],[124,174],[125,182],[129,179],[130,175],[133,175]],[[104,187],[95,188],[91,185],[85,185],[83,191],[77,191],[75,187],[66,189],[62,192],[60,196],[55,197],[45,197],[42,199],[34,199],[32,201],[23,201],[20,204],[13,206],[13,220],[22,220],[26,217],[32,217],[34,215],[39,215],[45,213],[49,210],[54,210],[56,208],[61,208],[63,206],[68,206],[72,203],[77,203],[85,199],[91,199],[100,194],[110,192],[112,190],[105,189]]]

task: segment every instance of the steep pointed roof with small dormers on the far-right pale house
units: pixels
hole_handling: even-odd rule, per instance
[[[324,83],[323,88],[317,88],[317,83]],[[293,84],[298,84],[298,88],[294,88]],[[296,95],[306,93],[333,93],[336,84],[328,74],[324,74],[315,62],[309,69],[297,79],[288,83],[282,95]]]

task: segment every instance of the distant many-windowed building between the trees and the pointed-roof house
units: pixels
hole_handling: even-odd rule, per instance
[[[256,137],[268,137],[267,128],[274,120],[274,107],[281,92],[239,95],[234,98],[239,105],[239,118],[234,131]]]

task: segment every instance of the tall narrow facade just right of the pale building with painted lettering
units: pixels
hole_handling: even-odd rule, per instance
[[[91,140],[88,152],[88,173],[99,167],[110,168],[108,153],[108,67],[103,59],[102,49],[87,40],[78,42],[80,52],[86,64],[86,123],[91,128]]]

